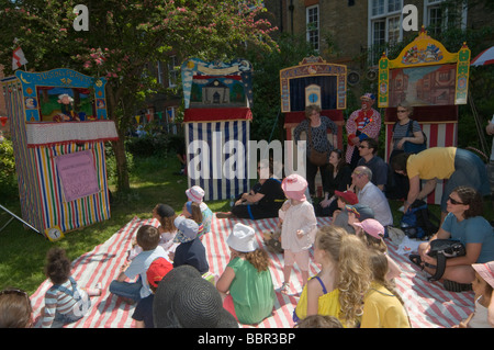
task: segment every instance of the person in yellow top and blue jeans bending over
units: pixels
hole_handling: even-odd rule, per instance
[[[415,200],[425,199],[436,189],[437,180],[447,179],[441,197],[441,223],[448,214],[446,201],[459,185],[468,185],[482,195],[491,193],[485,163],[474,154],[457,147],[433,147],[417,155],[401,154],[391,160],[397,173],[408,177],[409,190],[404,210]],[[427,180],[420,191],[420,180]]]

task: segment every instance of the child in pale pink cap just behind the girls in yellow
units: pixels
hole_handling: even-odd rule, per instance
[[[400,269],[398,264],[388,255],[388,246],[383,239],[384,226],[373,218],[367,218],[361,223],[356,222],[352,225],[356,227],[357,237],[362,239],[367,247],[377,249],[386,257],[389,264],[386,280],[392,281],[394,278],[400,276],[402,269]]]

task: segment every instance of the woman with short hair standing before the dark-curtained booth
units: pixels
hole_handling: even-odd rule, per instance
[[[333,134],[333,144],[327,139],[327,129]],[[311,104],[305,109],[305,120],[302,121],[293,131],[295,143],[300,140],[300,135],[305,132],[306,135],[306,180],[311,196],[315,195],[315,177],[321,171],[323,188],[326,181],[326,170],[329,155],[337,145],[338,127],[327,116],[321,115],[321,108]]]

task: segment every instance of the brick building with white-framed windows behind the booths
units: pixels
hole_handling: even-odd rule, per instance
[[[468,5],[459,4],[461,0],[267,0],[265,5],[280,31],[305,33],[324,59],[347,65],[356,79],[373,80],[381,54],[414,38],[423,25],[433,37],[448,26],[492,26],[492,11],[482,3],[465,2]],[[412,14],[402,13],[408,4],[416,9],[417,31],[402,26]]]

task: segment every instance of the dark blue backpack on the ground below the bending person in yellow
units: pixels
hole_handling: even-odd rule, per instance
[[[401,229],[408,238],[425,239],[437,233],[439,219],[429,212],[427,203],[416,200],[400,223]]]

